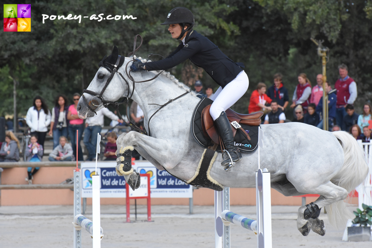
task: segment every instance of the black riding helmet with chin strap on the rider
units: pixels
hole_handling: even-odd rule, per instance
[[[168,13],[168,17],[161,25],[169,25],[169,24],[177,24],[179,23],[182,27],[181,35],[177,38],[177,40],[181,39],[182,36],[189,31],[194,26],[194,15],[191,11],[185,7],[175,7]],[[185,25],[190,24],[190,26],[185,30]]]

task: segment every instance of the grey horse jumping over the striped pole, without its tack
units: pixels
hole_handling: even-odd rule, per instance
[[[159,170],[166,169],[172,175],[189,182],[195,176],[204,152],[190,130],[191,116],[199,98],[169,72],[162,72],[157,78],[142,83],[138,82],[151,79],[158,72],[131,72],[137,82],[133,90],[133,82],[126,74],[126,68],[132,60],[125,58],[124,66],[117,66],[122,76],[118,73],[112,75],[104,66],[98,69],[87,88],[90,94],[84,93],[79,100],[79,117],[92,117],[94,111],[103,108],[92,108],[95,92],[97,95],[102,92],[101,98],[111,102],[129,95],[142,109],[145,128],[151,131],[151,136],[135,131],[120,135],[117,140],[118,164],[121,163],[121,155],[134,148]],[[109,77],[109,84],[105,85]],[[189,93],[162,108],[148,123],[149,118],[159,109],[158,105],[185,92]],[[272,188],[285,196],[307,193],[320,195],[313,203],[299,208],[299,231],[304,236],[309,234],[310,229],[319,235],[325,234],[324,223],[317,218],[322,207],[326,207],[332,225],[343,227],[346,220],[352,217],[343,200],[368,174],[364,152],[357,141],[347,132],[328,132],[301,123],[266,124],[261,128],[264,148],[260,151],[260,164],[261,168],[267,168],[271,173]],[[257,150],[243,153],[243,160],[229,172],[221,167],[221,154],[215,156],[213,166],[208,171],[208,179],[221,187],[255,187],[257,153]],[[129,169],[119,170],[118,173],[134,188],[136,182],[131,179],[138,175]]]

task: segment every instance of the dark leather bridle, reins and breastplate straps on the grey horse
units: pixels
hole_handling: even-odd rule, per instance
[[[138,48],[136,48],[137,36],[139,36],[139,37],[141,38],[141,44],[138,46]],[[83,101],[84,101],[84,103],[88,106],[88,108],[89,108],[91,111],[93,111],[94,114],[97,115],[96,109],[99,108],[99,107],[101,107],[102,105],[103,105],[105,108],[107,108],[109,105],[113,105],[113,106],[115,106],[115,108],[116,108],[116,110],[117,110],[117,114],[118,114],[119,118],[120,118],[121,120],[123,120],[122,115],[121,115],[120,112],[119,112],[119,105],[121,105],[121,104],[123,104],[123,103],[128,103],[128,99],[130,99],[130,98],[133,96],[134,88],[135,88],[135,83],[143,83],[143,82],[152,81],[152,80],[154,80],[155,78],[157,78],[157,77],[158,77],[158,76],[159,76],[159,75],[164,71],[164,70],[160,71],[160,72],[159,72],[158,74],[156,74],[153,78],[150,78],[150,79],[147,79],[147,80],[143,80],[143,81],[135,81],[135,80],[134,80],[134,78],[133,78],[132,75],[130,74],[131,69],[129,69],[129,71],[128,71],[127,68],[128,68],[128,64],[129,64],[130,62],[134,62],[134,61],[135,61],[135,55],[134,55],[134,54],[135,54],[135,53],[139,50],[139,48],[142,46],[142,41],[143,41],[143,40],[142,40],[142,37],[141,37],[139,34],[137,34],[137,35],[134,37],[134,42],[133,42],[133,52],[130,52],[130,53],[128,54],[128,57],[132,56],[133,59],[130,60],[129,62],[127,62],[126,65],[125,65],[125,73],[126,73],[126,76],[127,76],[127,77],[132,81],[132,85],[133,85],[133,87],[132,87],[132,91],[131,91],[131,93],[130,93],[130,96],[129,96],[129,90],[130,90],[129,82],[124,78],[123,74],[120,73],[120,72],[118,71],[118,69],[121,67],[121,66],[119,66],[119,64],[120,64],[120,60],[121,60],[121,56],[120,56],[120,55],[118,56],[118,59],[117,59],[117,61],[116,61],[115,64],[112,64],[112,63],[109,63],[109,62],[103,62],[103,65],[102,65],[102,66],[105,67],[108,71],[110,71],[111,74],[110,74],[109,78],[107,79],[107,81],[106,81],[106,83],[105,83],[105,86],[103,87],[103,89],[101,90],[100,93],[96,93],[96,92],[94,92],[94,91],[87,90],[87,89],[84,89],[84,90],[83,90],[83,94],[82,94]],[[149,54],[148,57],[150,57],[150,56],[152,56],[152,55],[158,55],[158,54]],[[158,55],[158,56],[161,56],[161,55]],[[161,56],[161,57],[163,57],[163,56]],[[164,57],[163,57],[163,59],[164,59]],[[105,58],[103,59],[103,61],[104,61],[104,60],[105,60]],[[111,69],[108,65],[114,66],[114,69]],[[123,78],[123,80],[125,81],[125,83],[126,83],[126,85],[127,85],[127,87],[128,87],[128,92],[127,92],[126,97],[125,97],[122,101],[120,101],[120,102],[107,101],[107,100],[105,100],[105,99],[103,98],[103,96],[102,96],[103,93],[105,92],[107,86],[109,85],[109,83],[110,83],[111,80],[113,79],[115,73],[118,73],[118,74]],[[148,134],[147,134],[146,130],[142,130],[141,128],[139,128],[138,126],[136,126],[135,124],[133,124],[132,122],[130,122],[129,119],[128,119],[128,123],[126,123],[126,124],[128,124],[130,127],[132,127],[135,131],[150,136],[150,120],[151,120],[151,118],[152,118],[152,117],[153,117],[153,116],[154,116],[154,115],[155,115],[159,110],[161,110],[163,107],[165,107],[165,106],[168,105],[169,103],[173,102],[174,100],[176,100],[176,99],[178,99],[178,98],[180,98],[180,97],[186,95],[186,94],[189,93],[189,92],[190,92],[190,91],[187,91],[186,93],[184,93],[184,94],[182,94],[182,95],[180,95],[180,96],[178,96],[178,97],[176,97],[176,98],[174,98],[174,99],[171,99],[170,101],[168,101],[167,103],[165,103],[165,104],[163,104],[163,105],[159,105],[159,104],[150,104],[150,105],[159,105],[159,106],[161,106],[161,107],[160,107],[160,108],[159,108],[159,109],[158,109],[154,114],[152,114],[152,116],[149,118],[149,121],[148,121],[148,124],[147,124],[148,129],[149,129],[149,133],[148,133]],[[92,100],[90,101],[92,106],[88,103],[87,99],[86,99],[85,96],[84,96],[84,93],[87,93],[87,94],[90,94],[90,95],[93,96]],[[124,120],[123,120],[123,121],[124,121]]]

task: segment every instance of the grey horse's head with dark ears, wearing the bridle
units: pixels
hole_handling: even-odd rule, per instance
[[[93,117],[104,105],[118,101],[128,91],[129,85],[123,83],[123,78],[117,73],[125,60],[130,59],[121,57],[116,46],[110,56],[102,59],[96,75],[80,97],[77,105],[79,118]]]

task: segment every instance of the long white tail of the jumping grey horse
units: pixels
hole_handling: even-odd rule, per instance
[[[341,142],[345,159],[341,170],[331,181],[335,185],[345,188],[349,194],[365,181],[369,168],[364,151],[353,136],[345,131],[335,131],[332,134]],[[347,219],[355,217],[346,206],[347,204],[340,200],[325,207],[332,226],[342,228]]]

